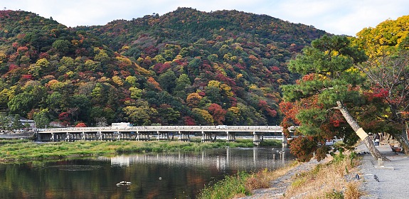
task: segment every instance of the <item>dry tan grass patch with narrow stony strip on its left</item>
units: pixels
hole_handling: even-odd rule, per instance
[[[253,190],[250,198],[359,198],[355,180],[356,154],[336,154],[323,161],[299,163],[270,182],[270,188]]]

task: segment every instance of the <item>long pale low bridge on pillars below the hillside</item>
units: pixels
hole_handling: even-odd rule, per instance
[[[76,140],[169,140],[169,135],[179,136],[180,141],[189,141],[191,134],[201,133],[202,141],[213,141],[218,135],[226,136],[226,141],[235,141],[236,133],[253,134],[253,141],[259,144],[266,133],[282,134],[280,126],[139,126],[139,127],[70,127],[38,129],[37,141]],[[214,136],[214,137],[213,137]]]

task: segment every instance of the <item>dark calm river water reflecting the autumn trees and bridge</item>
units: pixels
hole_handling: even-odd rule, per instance
[[[0,164],[0,198],[195,198],[238,171],[278,168],[285,149],[216,149]],[[275,154],[275,160],[273,155]],[[117,185],[129,181],[131,185]]]

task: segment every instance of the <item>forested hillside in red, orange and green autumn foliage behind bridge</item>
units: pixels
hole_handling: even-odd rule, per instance
[[[0,109],[38,127],[275,125],[287,61],[324,33],[240,11],[75,28],[0,11]]]

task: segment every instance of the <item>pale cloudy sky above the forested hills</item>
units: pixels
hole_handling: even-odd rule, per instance
[[[1,9],[31,11],[65,26],[105,25],[178,7],[199,11],[237,10],[267,14],[329,33],[355,36],[366,27],[409,15],[408,0],[1,0]]]

